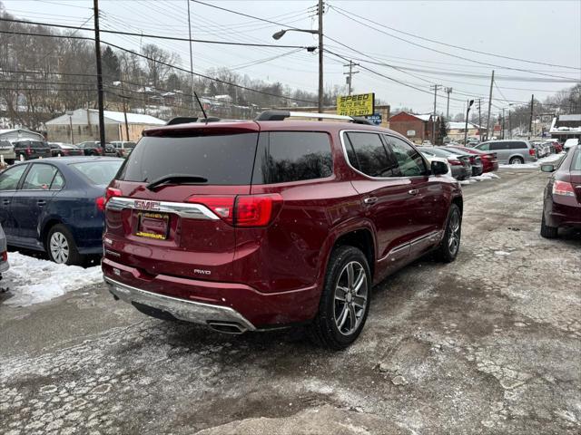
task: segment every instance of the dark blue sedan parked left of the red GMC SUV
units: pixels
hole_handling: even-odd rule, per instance
[[[66,265],[102,254],[104,191],[123,161],[32,160],[0,173],[0,225],[8,245],[44,251]]]

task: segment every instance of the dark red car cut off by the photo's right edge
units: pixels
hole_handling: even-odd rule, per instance
[[[556,167],[542,165],[552,173],[544,194],[541,236],[554,238],[559,227],[581,227],[581,145],[571,148]]]

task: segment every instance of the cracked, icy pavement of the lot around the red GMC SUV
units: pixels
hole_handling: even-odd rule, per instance
[[[465,186],[458,260],[376,288],[340,353],[300,331],[164,323],[103,285],[0,304],[0,433],[579,433],[581,234],[538,234],[547,176]]]

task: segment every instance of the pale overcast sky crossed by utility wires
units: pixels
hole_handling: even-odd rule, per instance
[[[59,24],[82,24],[93,13],[92,0],[2,1],[11,14],[30,20]],[[316,17],[310,16],[313,15],[315,0],[205,1],[297,28],[317,27]],[[100,4],[103,11],[103,28],[188,36],[186,0],[101,0]],[[457,113],[463,110],[468,95],[487,99],[492,69],[496,72],[499,88],[494,89],[494,97],[514,102],[529,101],[531,93],[535,93],[537,98],[543,100],[551,92],[574,84],[555,82],[563,80],[561,78],[581,81],[580,0],[514,2],[329,0],[327,4],[330,8],[324,15],[324,33],[360,53],[350,51],[340,43],[327,39],[325,43],[330,51],[347,58],[359,59],[357,62],[376,73],[419,88],[412,89],[365,70],[360,70],[360,73],[354,76],[355,92],[376,92],[379,99],[388,102],[392,107],[407,106],[419,112],[431,111],[433,94],[429,93],[429,85],[438,83],[453,88],[450,112]],[[280,25],[254,21],[196,3],[192,3],[191,8],[193,38],[277,43],[271,38],[271,34],[280,30]],[[376,24],[370,24],[367,19],[373,20]],[[385,33],[354,20],[367,22],[369,26]],[[87,25],[92,24],[93,21],[90,21]],[[416,36],[479,52],[495,53],[510,59],[428,42]],[[133,50],[138,50],[140,44],[138,37],[111,34],[104,34],[103,40]],[[187,43],[143,38],[143,43],[146,42],[155,42],[165,49],[179,53],[182,66],[189,68]],[[310,34],[288,33],[280,43],[314,45],[317,40]],[[270,82],[279,81],[291,87],[316,92],[318,71],[316,53],[291,53],[271,62],[251,64],[288,52],[289,49],[281,48],[226,47],[194,43],[194,71],[202,72],[222,66],[239,68],[237,70],[239,73],[248,74],[252,78]],[[516,61],[515,58],[561,66],[526,63]],[[344,85],[343,72],[346,68],[342,63],[344,62],[330,53],[326,54],[326,85]],[[505,70],[481,63],[526,71]],[[497,107],[507,107],[507,104],[508,102],[500,100],[495,102]],[[438,111],[445,109],[445,98],[438,97]]]

